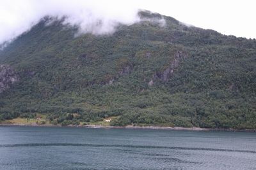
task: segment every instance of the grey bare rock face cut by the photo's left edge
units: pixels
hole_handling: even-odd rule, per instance
[[[9,89],[17,81],[19,81],[19,76],[11,66],[0,65],[0,93]]]

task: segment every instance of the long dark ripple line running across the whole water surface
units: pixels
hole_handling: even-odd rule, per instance
[[[240,152],[240,153],[256,153],[253,150],[232,150],[220,148],[191,148],[191,147],[175,147],[175,146],[150,146],[150,145],[97,145],[85,143],[20,143],[0,145],[0,148],[14,147],[33,147],[33,146],[84,146],[84,147],[118,147],[118,148],[149,148],[149,149],[170,149],[170,150],[200,150],[200,151],[218,151],[218,152]]]

